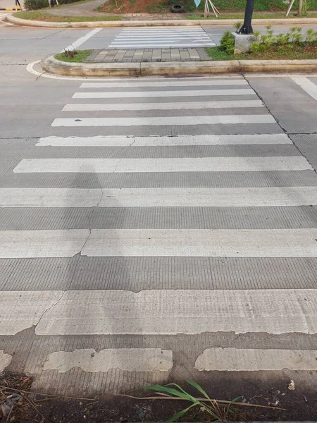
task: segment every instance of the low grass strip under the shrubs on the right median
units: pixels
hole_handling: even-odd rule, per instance
[[[272,46],[267,51],[256,51],[245,54],[233,54],[223,51],[220,47],[209,47],[206,53],[213,60],[294,60],[294,59],[317,59],[317,46],[291,46],[280,48]]]

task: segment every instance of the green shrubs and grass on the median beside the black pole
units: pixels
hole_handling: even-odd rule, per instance
[[[240,23],[235,25],[236,29]],[[271,25],[261,35],[255,31],[256,42],[251,44],[250,52],[234,54],[235,41],[230,31],[220,40],[220,46],[206,49],[213,60],[274,60],[274,59],[317,59],[317,31],[310,28],[306,35],[301,27],[292,27],[286,34],[273,35]]]

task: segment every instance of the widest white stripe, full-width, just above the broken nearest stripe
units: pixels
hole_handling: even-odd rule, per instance
[[[57,293],[2,292],[0,334],[14,335],[34,324],[37,335],[317,333],[316,289]]]

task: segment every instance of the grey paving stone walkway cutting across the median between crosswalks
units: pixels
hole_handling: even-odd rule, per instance
[[[166,62],[211,60],[204,47],[182,49],[104,49],[93,50],[85,62]]]

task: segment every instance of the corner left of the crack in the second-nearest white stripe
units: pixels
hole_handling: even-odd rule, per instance
[[[0,334],[15,335],[31,328],[50,307],[61,299],[63,291],[2,291],[0,295]]]

